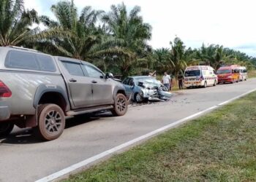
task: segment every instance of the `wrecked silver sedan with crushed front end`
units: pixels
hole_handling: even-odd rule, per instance
[[[172,96],[167,88],[152,76],[129,76],[122,84],[127,95],[137,103],[144,100],[169,100]]]

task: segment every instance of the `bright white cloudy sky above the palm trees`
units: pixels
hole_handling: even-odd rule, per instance
[[[59,0],[24,0],[26,9],[54,17],[52,4]],[[256,11],[254,0],[74,0],[83,7],[110,11],[112,4],[124,2],[127,9],[141,7],[140,15],[152,26],[149,44],[154,49],[170,48],[178,36],[187,47],[221,44],[256,57]]]

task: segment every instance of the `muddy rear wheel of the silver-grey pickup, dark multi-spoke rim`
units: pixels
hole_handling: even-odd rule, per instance
[[[52,141],[62,134],[65,128],[65,115],[56,104],[42,104],[37,112],[37,127],[34,132],[42,141]]]

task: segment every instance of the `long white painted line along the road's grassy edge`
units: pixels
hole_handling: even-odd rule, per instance
[[[167,124],[165,127],[160,127],[159,129],[154,130],[152,132],[148,132],[146,135],[142,135],[142,136],[140,136],[138,138],[133,139],[132,141],[128,141],[126,143],[123,143],[123,144],[121,144],[119,146],[116,146],[116,147],[114,147],[112,149],[109,149],[108,151],[103,151],[102,153],[97,154],[94,157],[90,157],[89,159],[85,159],[85,160],[83,160],[81,162],[78,162],[75,165],[71,165],[71,166],[69,166],[67,168],[64,168],[63,170],[60,170],[60,171],[58,171],[56,173],[53,173],[53,174],[48,175],[48,176],[45,176],[44,178],[41,178],[41,179],[37,180],[36,182],[48,182],[48,181],[56,180],[57,178],[60,178],[63,175],[67,175],[67,174],[71,173],[74,170],[78,170],[80,167],[85,167],[86,165],[89,165],[91,162],[95,162],[98,159],[102,159],[103,157],[106,157],[109,154],[113,154],[116,151],[119,151],[121,149],[126,148],[127,146],[131,146],[134,143],[138,143],[139,141],[143,141],[144,139],[149,138],[149,137],[151,137],[153,135],[156,135],[159,132],[163,132],[163,131],[165,131],[167,129],[170,129],[171,127],[175,127],[176,125],[181,124],[181,123],[183,123],[183,122],[185,122],[185,121],[187,121],[189,119],[192,119],[192,118],[194,118],[196,116],[200,116],[201,114],[204,114],[204,113],[206,113],[208,111],[214,110],[215,108],[223,106],[223,105],[225,105],[227,103],[232,102],[233,100],[236,100],[238,98],[244,97],[244,95],[248,95],[249,93],[255,92],[255,91],[256,91],[256,89],[251,90],[251,91],[246,92],[244,94],[238,95],[235,98],[232,98],[230,100],[226,100],[225,102],[219,103],[216,106],[212,106],[210,108],[206,108],[205,110],[197,112],[196,114],[192,114],[191,116],[187,116],[184,119],[180,119],[177,122],[173,122],[171,124]]]

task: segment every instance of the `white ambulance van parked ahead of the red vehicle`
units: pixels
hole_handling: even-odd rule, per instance
[[[189,66],[184,72],[184,86],[189,87],[207,87],[215,86],[218,83],[218,77],[214,68],[211,66]]]

